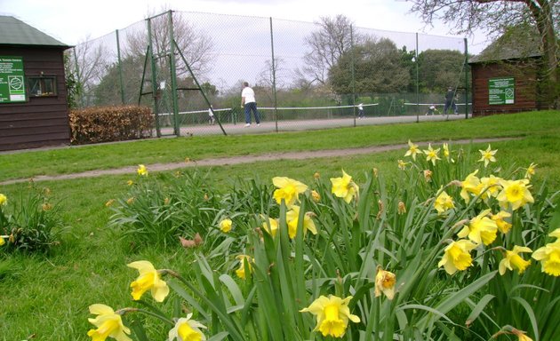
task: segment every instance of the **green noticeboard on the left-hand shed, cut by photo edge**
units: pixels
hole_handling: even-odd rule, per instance
[[[0,103],[25,101],[23,58],[0,56]]]

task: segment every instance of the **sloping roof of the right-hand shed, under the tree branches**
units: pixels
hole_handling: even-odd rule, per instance
[[[535,28],[514,27],[468,59],[469,64],[542,56],[540,35]]]

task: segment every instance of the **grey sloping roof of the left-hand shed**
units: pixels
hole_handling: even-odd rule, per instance
[[[69,47],[21,20],[0,15],[0,44]]]

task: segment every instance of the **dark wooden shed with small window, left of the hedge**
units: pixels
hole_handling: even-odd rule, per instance
[[[0,32],[0,151],[68,145],[70,46],[9,16],[0,16]]]

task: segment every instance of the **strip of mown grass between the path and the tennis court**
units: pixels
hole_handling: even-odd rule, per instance
[[[474,138],[556,136],[560,133],[560,111],[517,115],[494,115],[463,121],[405,123],[340,128],[325,131],[270,133],[266,135],[205,136],[179,139],[150,139],[125,143],[0,155],[0,181],[36,175],[107,170],[138,163],[178,163],[186,157],[262,155],[403,144],[413,141]]]

